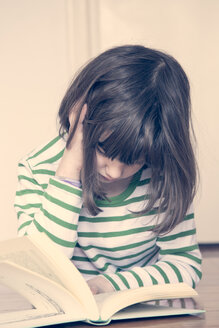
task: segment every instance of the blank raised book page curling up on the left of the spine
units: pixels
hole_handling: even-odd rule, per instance
[[[11,261],[65,287],[78,299],[89,318],[99,317],[95,299],[83,276],[44,233],[0,242],[1,260]]]

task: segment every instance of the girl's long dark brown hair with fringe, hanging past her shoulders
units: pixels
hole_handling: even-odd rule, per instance
[[[139,214],[158,203],[158,216],[165,214],[154,231],[168,232],[183,220],[196,190],[190,86],[184,70],[172,56],[140,45],[103,52],[78,73],[61,103],[60,135],[68,132],[69,114],[80,104],[67,147],[85,103],[81,172],[85,206],[97,215],[95,199],[106,198],[95,155],[105,135],[101,147],[107,157],[126,164],[144,157],[151,168],[150,199]]]

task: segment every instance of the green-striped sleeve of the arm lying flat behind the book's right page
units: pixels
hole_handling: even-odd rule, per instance
[[[116,290],[152,284],[186,282],[193,288],[201,279],[201,254],[196,240],[193,213],[170,233],[156,238],[156,261],[141,267],[104,274]],[[153,260],[152,260],[153,261]]]

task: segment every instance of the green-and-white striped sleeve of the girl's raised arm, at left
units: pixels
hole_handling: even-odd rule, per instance
[[[44,231],[71,258],[77,242],[82,190],[55,177],[55,171],[18,165],[15,197],[18,235]]]

